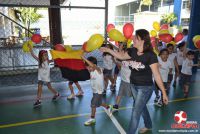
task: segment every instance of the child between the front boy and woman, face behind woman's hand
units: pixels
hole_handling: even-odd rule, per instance
[[[110,44],[107,44],[106,47],[113,49]],[[109,53],[103,53],[103,75],[104,75],[104,82],[105,82],[105,89],[103,94],[106,94],[106,89],[108,86],[108,80],[111,82],[111,91],[115,91],[116,85],[114,82],[114,78],[112,76],[114,58]]]

